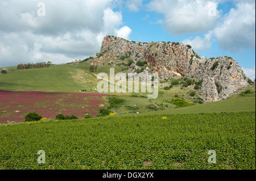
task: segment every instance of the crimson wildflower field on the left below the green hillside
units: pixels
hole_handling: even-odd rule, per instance
[[[36,112],[47,119],[56,115],[75,115],[84,118],[86,113],[96,116],[101,106],[106,107],[104,94],[67,92],[0,91],[0,123],[24,121],[27,113]]]

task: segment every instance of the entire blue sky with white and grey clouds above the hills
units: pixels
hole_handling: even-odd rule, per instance
[[[2,0],[0,17],[0,67],[83,60],[114,35],[230,56],[255,79],[255,0]]]

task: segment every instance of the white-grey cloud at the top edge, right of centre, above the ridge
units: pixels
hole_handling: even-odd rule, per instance
[[[148,7],[164,15],[168,31],[175,35],[205,32],[213,28],[219,18],[217,3],[207,0],[154,0]]]

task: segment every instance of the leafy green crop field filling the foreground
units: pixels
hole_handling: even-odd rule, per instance
[[[1,169],[255,169],[255,111],[6,124],[0,139]]]

